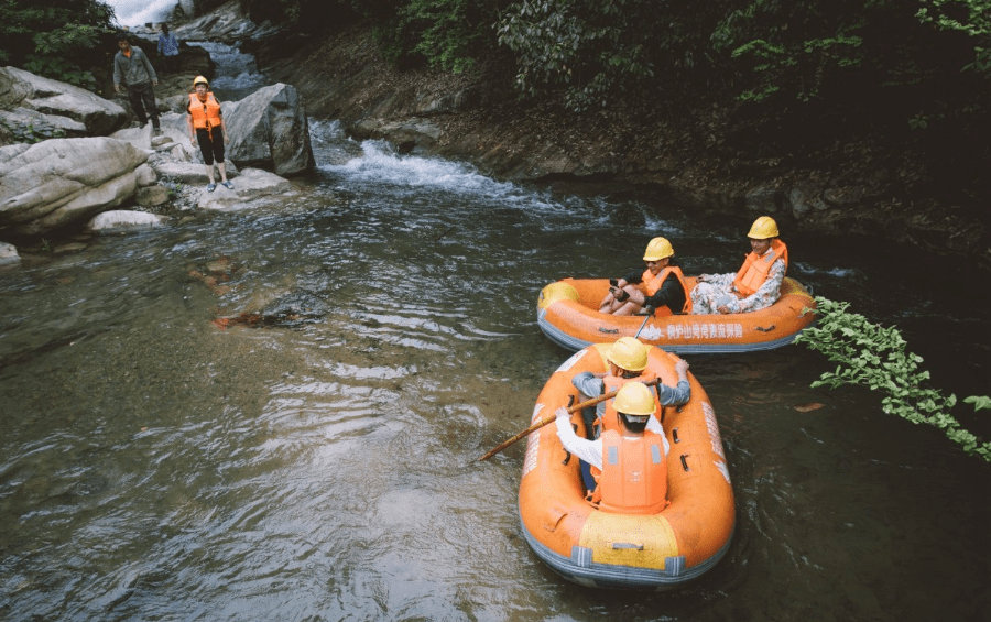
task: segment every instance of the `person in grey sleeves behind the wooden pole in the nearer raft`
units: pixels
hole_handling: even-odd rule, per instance
[[[608,372],[584,371],[571,378],[571,384],[586,396],[585,400],[619,391],[630,382],[654,380],[652,373],[643,371],[647,367],[647,348],[633,337],[620,337],[609,348],[606,359],[609,364]],[[678,406],[686,404],[691,399],[691,386],[688,384],[688,362],[678,359],[678,362],[675,363],[675,372],[678,374],[677,386],[657,385],[657,395],[662,406]],[[582,408],[581,417],[585,421],[586,436],[589,439],[598,438],[603,429],[616,428],[613,401],[599,402],[595,410]]]

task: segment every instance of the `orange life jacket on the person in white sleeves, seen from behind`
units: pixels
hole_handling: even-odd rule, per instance
[[[593,469],[596,470],[596,469]],[[602,435],[602,471],[591,502],[622,514],[656,514],[667,506],[667,460],[661,435]]]

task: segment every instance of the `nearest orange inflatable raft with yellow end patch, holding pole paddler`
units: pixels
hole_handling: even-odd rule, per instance
[[[582,371],[606,371],[608,345],[576,352],[544,385],[532,422],[584,397],[571,385]],[[647,370],[677,384],[675,358],[650,348]],[[669,590],[698,578],[726,555],[736,526],[733,490],[716,413],[705,390],[689,375],[691,400],[658,408],[669,443],[671,502],[657,514],[619,514],[585,500],[579,460],[569,456],[554,423],[527,438],[520,480],[520,516],[526,542],[545,564],[580,585]],[[571,416],[584,434],[580,413]]]

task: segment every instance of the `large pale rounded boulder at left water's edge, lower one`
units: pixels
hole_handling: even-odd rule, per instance
[[[112,209],[134,195],[146,160],[105,137],[0,148],[0,228],[35,236]]]

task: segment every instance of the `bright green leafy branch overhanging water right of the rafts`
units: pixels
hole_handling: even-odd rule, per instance
[[[885,393],[881,401],[885,413],[938,427],[967,454],[991,462],[991,443],[981,441],[949,414],[957,403],[956,396],[945,396],[923,386],[929,380],[929,372],[919,369],[922,357],[907,351],[907,343],[895,327],[884,328],[862,315],[849,313],[849,303],[821,296],[816,297],[816,303],[817,325],[803,330],[795,342],[821,352],[838,364],[836,370],[815,381],[814,388],[857,384],[881,391]],[[978,410],[991,407],[991,399],[987,396],[971,396],[965,402],[973,403]]]

